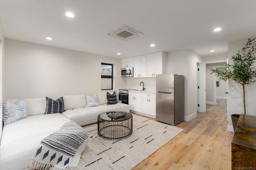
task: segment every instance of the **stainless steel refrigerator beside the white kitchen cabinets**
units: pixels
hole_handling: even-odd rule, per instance
[[[184,121],[184,76],[156,75],[156,120],[171,125]]]

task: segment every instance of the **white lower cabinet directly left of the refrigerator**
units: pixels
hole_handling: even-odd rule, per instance
[[[141,112],[156,116],[156,94],[142,94]]]

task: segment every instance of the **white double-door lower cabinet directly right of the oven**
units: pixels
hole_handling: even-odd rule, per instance
[[[141,112],[141,93],[129,92],[129,106],[130,110]]]

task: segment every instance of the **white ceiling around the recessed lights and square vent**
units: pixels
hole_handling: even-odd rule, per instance
[[[256,36],[255,7],[256,0],[0,0],[0,20],[6,38],[98,55],[190,49],[210,56]],[[108,35],[123,25],[144,35],[128,41]]]

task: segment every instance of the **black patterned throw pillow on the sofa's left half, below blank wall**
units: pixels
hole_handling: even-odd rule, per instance
[[[44,114],[62,113],[64,111],[63,97],[60,97],[57,100],[46,97],[46,110]]]

